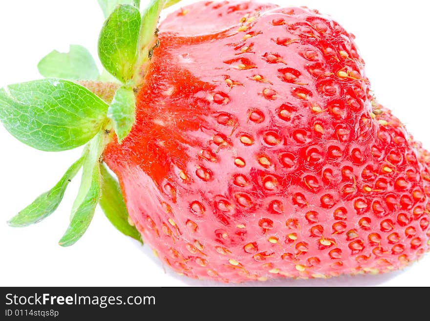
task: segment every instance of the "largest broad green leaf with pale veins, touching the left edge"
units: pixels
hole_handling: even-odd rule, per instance
[[[0,120],[38,150],[70,150],[88,142],[106,121],[108,105],[83,86],[43,79],[0,89]]]

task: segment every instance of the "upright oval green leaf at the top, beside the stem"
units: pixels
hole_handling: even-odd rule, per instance
[[[122,4],[112,12],[100,32],[100,61],[122,83],[127,83],[134,72],[140,24],[139,10]]]

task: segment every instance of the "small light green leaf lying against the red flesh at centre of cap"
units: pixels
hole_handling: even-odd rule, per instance
[[[108,117],[113,122],[113,129],[121,141],[127,137],[134,124],[134,109],[136,97],[132,88],[122,86],[113,97],[108,108]]]

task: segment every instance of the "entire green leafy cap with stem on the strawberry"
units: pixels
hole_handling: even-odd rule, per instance
[[[86,232],[97,204],[119,231],[142,242],[129,223],[118,181],[103,164],[103,152],[112,140],[121,143],[134,124],[135,97],[159,44],[160,12],[177,2],[152,0],[141,14],[140,0],[99,0],[107,18],[98,41],[102,73],[88,50],[71,45],[68,53],[52,51],[41,60],[38,68],[45,79],[0,89],[0,121],[24,144],[45,151],[86,144],[58,183],[10,219],[10,226],[28,226],[52,214],[82,168],[70,223],[59,244],[72,245]]]

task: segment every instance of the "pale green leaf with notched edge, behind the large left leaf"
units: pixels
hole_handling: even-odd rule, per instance
[[[99,69],[85,47],[72,44],[67,53],[52,51],[37,65],[39,72],[46,78],[70,80],[97,80]]]

